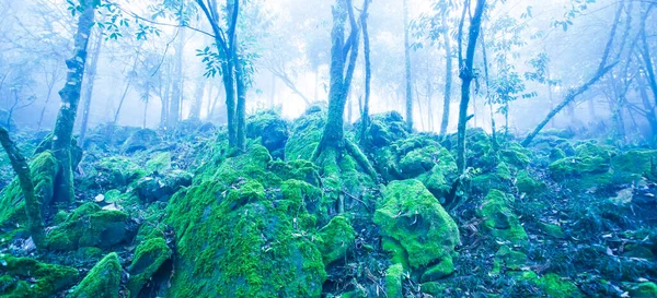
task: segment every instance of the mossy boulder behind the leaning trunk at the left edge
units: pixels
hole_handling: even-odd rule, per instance
[[[55,180],[59,171],[59,163],[49,151],[43,152],[30,162],[32,181],[36,198],[45,212],[53,204]],[[0,227],[12,228],[18,233],[27,224],[25,200],[18,178],[0,191]]]

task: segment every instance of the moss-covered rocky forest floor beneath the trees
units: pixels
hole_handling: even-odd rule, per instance
[[[472,129],[458,176],[456,135],[389,112],[359,144],[373,179],[341,151],[308,162],[324,121],[258,112],[245,153],[199,121],[101,126],[68,205],[48,133],[14,135],[48,248],[0,155],[0,297],[657,297],[657,151]]]

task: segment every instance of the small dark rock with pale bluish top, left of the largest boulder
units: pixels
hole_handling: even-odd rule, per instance
[[[192,184],[192,174],[184,170],[172,170],[163,175],[151,175],[137,181],[135,190],[147,203],[166,202],[181,188]]]

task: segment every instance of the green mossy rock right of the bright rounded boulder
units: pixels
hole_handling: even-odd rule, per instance
[[[528,240],[527,233],[509,207],[510,202],[512,196],[507,196],[496,189],[491,190],[479,213],[484,219],[484,228],[493,237],[514,245],[523,245]]]

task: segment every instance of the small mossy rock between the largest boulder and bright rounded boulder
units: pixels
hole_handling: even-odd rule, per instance
[[[319,231],[322,243],[319,246],[324,264],[346,258],[356,241],[356,231],[344,216],[335,216]]]

